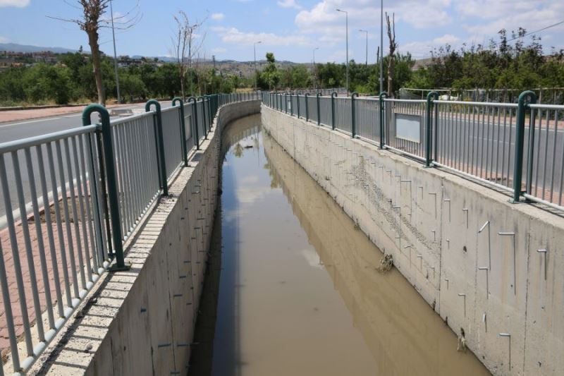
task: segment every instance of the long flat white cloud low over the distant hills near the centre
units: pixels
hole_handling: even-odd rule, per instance
[[[255,42],[262,42],[266,46],[309,46],[309,40],[303,35],[276,35],[271,32],[242,32],[237,28],[212,28],[221,40],[231,44],[246,44],[252,46]]]

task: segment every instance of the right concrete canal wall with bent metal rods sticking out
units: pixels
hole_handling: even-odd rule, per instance
[[[562,217],[264,106],[262,123],[494,375],[562,375]]]

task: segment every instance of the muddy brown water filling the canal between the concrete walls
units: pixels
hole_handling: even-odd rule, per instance
[[[260,121],[223,135],[189,375],[489,375]]]

